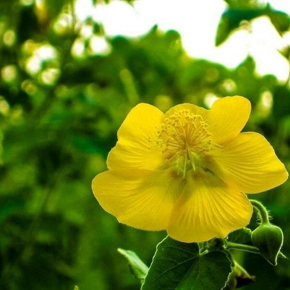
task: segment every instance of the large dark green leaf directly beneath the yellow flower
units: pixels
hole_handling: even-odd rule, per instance
[[[224,253],[200,255],[197,243],[181,243],[167,236],[157,245],[142,290],[220,290],[231,272]]]

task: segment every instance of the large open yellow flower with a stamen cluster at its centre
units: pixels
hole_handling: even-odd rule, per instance
[[[250,111],[240,96],[210,110],[181,104],[165,114],[137,105],[118,130],[109,170],[92,181],[96,199],[120,222],[166,230],[182,242],[224,238],[246,226],[253,207],[244,193],[288,178],[262,135],[240,133]]]

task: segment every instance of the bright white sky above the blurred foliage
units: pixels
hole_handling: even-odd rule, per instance
[[[272,7],[290,13],[289,0],[269,0]],[[217,24],[226,8],[223,0],[136,0],[133,6],[113,0],[108,5],[91,0],[76,0],[75,10],[80,19],[92,16],[104,25],[108,36],[137,37],[158,24],[162,31],[177,30],[184,49],[192,57],[205,58],[235,68],[248,54],[256,61],[256,72],[272,73],[281,81],[289,74],[289,62],[277,49],[290,44],[290,33],[279,36],[270,20],[256,18],[251,32],[239,30],[219,47],[215,46]]]

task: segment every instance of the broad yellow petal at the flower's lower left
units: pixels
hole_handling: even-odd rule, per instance
[[[138,229],[166,229],[183,181],[169,170],[109,170],[92,181],[100,205],[117,219]]]

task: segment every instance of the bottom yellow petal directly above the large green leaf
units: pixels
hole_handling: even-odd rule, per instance
[[[203,242],[246,226],[253,213],[247,197],[211,173],[188,177],[167,233],[181,242]]]

